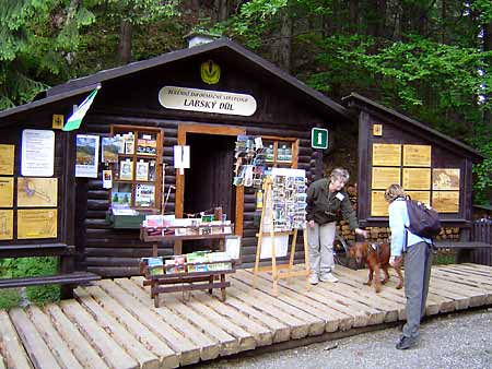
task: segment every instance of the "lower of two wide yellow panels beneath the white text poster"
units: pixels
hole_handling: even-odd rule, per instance
[[[56,238],[56,209],[17,210],[17,239]]]

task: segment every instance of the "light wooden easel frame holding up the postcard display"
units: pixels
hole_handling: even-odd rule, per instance
[[[267,213],[268,212],[268,213]],[[268,216],[269,219],[269,231],[263,231],[263,221]],[[271,265],[259,265],[260,262],[260,253],[261,253],[261,242],[263,239],[263,235],[269,235],[271,240]],[[276,236],[285,236],[292,237],[291,242],[291,250],[290,250],[290,257],[289,257],[289,263],[288,264],[277,264],[277,257],[276,257]],[[291,231],[274,231],[273,227],[273,206],[272,206],[272,180],[270,177],[267,177],[263,181],[263,207],[261,211],[261,222],[260,222],[260,228],[259,233],[257,234],[258,237],[258,246],[256,248],[256,260],[255,260],[255,269],[254,269],[254,276],[253,276],[253,287],[256,288],[256,278],[258,275],[258,272],[271,272],[272,275],[272,282],[273,282],[273,296],[279,295],[278,290],[278,283],[281,278],[289,278],[293,276],[305,276],[306,277],[306,285],[309,287],[308,283],[308,275],[309,275],[309,255],[307,252],[307,237],[306,237],[306,230],[303,229],[303,239],[304,239],[304,263],[305,267],[303,270],[294,271],[294,255],[295,255],[295,241],[297,240],[297,228],[294,228]]]

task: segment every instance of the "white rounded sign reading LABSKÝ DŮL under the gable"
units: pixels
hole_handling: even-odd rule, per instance
[[[168,109],[253,116],[256,100],[251,95],[220,91],[165,86],[159,92],[159,102]]]

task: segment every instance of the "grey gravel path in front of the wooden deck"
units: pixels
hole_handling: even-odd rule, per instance
[[[395,348],[400,329],[359,334],[338,341],[234,359],[200,364],[203,369],[492,369],[492,308],[433,318],[421,326],[421,342]]]

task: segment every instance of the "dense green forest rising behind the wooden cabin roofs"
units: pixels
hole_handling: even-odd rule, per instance
[[[2,0],[0,110],[49,86],[230,37],[336,102],[356,92],[477,148],[492,203],[490,0]]]

